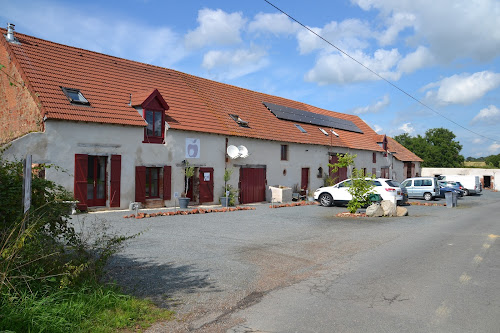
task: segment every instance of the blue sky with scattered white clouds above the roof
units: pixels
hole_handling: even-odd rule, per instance
[[[0,24],[356,114],[380,134],[424,135],[444,127],[455,133],[465,157],[500,153],[498,0],[271,2],[462,127],[264,0],[0,0]]]

